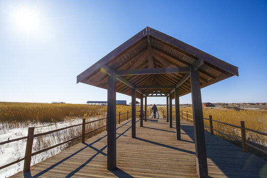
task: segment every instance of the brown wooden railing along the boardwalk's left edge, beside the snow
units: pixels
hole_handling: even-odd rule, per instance
[[[126,113],[121,113],[119,112],[119,114],[117,114],[116,116],[119,117],[119,119],[116,119],[116,123],[121,123],[122,120],[125,120],[125,119],[129,119],[129,114],[131,113],[132,111],[127,111]],[[121,118],[121,116],[124,115],[125,117],[124,118]],[[117,118],[116,117],[116,118]],[[131,117],[130,117],[131,118]],[[94,123],[94,122],[99,122],[101,120],[106,120],[107,121],[107,118],[102,118],[102,119],[97,119],[97,120],[94,120],[94,121],[89,121],[89,122],[86,122],[86,118],[83,118],[83,123],[82,124],[77,124],[77,125],[73,125],[73,126],[68,126],[68,127],[64,127],[64,128],[60,128],[60,129],[56,129],[56,130],[53,130],[53,131],[49,131],[49,132],[45,132],[45,133],[40,133],[40,134],[34,134],[34,130],[35,130],[35,127],[29,127],[28,129],[28,136],[23,136],[23,137],[20,137],[20,138],[15,138],[15,139],[11,139],[11,140],[7,140],[7,141],[3,141],[3,142],[0,142],[0,145],[3,145],[3,144],[6,144],[6,143],[10,143],[10,142],[14,142],[14,141],[19,141],[19,140],[22,140],[22,139],[27,139],[27,142],[26,142],[26,150],[25,150],[25,156],[24,158],[20,158],[16,161],[13,161],[11,163],[8,163],[6,165],[3,165],[0,167],[0,170],[1,169],[4,169],[8,166],[11,166],[13,164],[16,164],[20,161],[24,161],[24,167],[23,167],[23,171],[30,171],[30,167],[31,167],[31,158],[32,156],[35,156],[37,154],[40,154],[40,153],[43,153],[47,150],[50,150],[52,148],[55,148],[57,146],[60,146],[62,144],[65,144],[65,143],[68,143],[70,141],[73,141],[77,138],[80,138],[82,137],[82,143],[85,142],[85,135],[87,134],[90,134],[90,133],[93,133],[93,132],[96,132],[104,127],[106,127],[107,125],[104,125],[104,126],[101,126],[99,128],[96,128],[94,130],[91,130],[91,131],[88,131],[86,132],[86,125],[87,124],[91,124],[91,123]],[[47,135],[47,134],[52,134],[52,133],[55,133],[55,132],[59,132],[59,131],[62,131],[62,130],[66,130],[66,129],[70,129],[70,128],[73,128],[73,127],[77,127],[77,126],[82,126],[82,134],[79,135],[79,136],[76,136],[74,138],[71,138],[67,141],[64,141],[64,142],[61,142],[61,143],[58,143],[56,145],[53,145],[53,146],[50,146],[50,147],[47,147],[47,148],[44,148],[42,150],[39,150],[39,151],[36,151],[34,153],[32,153],[32,147],[33,147],[33,140],[35,137],[38,137],[38,136],[43,136],[43,135]]]

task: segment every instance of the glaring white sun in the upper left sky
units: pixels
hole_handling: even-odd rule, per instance
[[[41,28],[39,12],[30,7],[19,7],[13,10],[12,18],[15,28],[31,33],[37,32]]]

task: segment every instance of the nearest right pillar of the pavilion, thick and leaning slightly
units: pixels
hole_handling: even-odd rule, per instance
[[[193,66],[190,66],[190,82],[193,105],[197,175],[199,178],[208,178],[208,164],[199,74],[198,70],[194,71]]]

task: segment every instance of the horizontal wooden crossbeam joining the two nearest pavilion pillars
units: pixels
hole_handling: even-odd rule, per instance
[[[169,73],[184,73],[189,71],[190,71],[189,67],[166,67],[166,68],[120,70],[116,71],[116,75],[126,76],[126,75],[169,74]]]

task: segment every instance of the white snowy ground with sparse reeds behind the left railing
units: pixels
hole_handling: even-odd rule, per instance
[[[98,118],[91,118],[90,121],[93,121]],[[35,127],[35,134],[44,133],[48,131],[52,131],[55,129],[60,129],[63,127],[73,126],[76,124],[81,124],[82,119],[76,118],[72,120],[68,120],[65,122],[58,123],[36,123],[32,124],[29,127]],[[98,128],[98,122],[95,122],[96,128]],[[90,128],[94,128],[95,126],[88,126]],[[14,128],[14,129],[4,129],[0,124],[0,142],[6,141],[9,139],[19,138],[28,135],[28,127],[27,128]],[[41,149],[47,148],[49,146],[55,145],[57,143],[66,141],[70,138],[78,136],[81,134],[82,126],[77,126],[69,129],[65,129],[59,132],[55,132],[53,134],[47,134],[44,136],[39,136],[34,138],[33,150],[32,152],[39,151]],[[16,161],[25,156],[26,149],[26,139],[22,139],[19,141],[10,142],[7,144],[0,145],[0,166],[6,165],[13,161]],[[58,146],[56,148],[50,149],[43,153],[40,153],[36,156],[32,157],[31,165],[37,164],[57,153],[64,150],[68,146],[68,143]],[[18,173],[23,170],[24,161],[21,161],[17,164],[11,165],[7,168],[0,170],[0,178],[7,178],[15,173]]]

